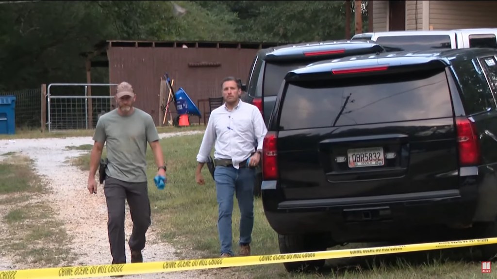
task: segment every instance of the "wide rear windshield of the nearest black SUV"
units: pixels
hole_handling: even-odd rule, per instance
[[[452,116],[442,70],[288,84],[280,130]]]

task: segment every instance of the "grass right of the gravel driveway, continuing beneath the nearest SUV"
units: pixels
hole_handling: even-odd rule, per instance
[[[148,153],[149,195],[153,222],[161,229],[162,237],[179,249],[193,249],[199,257],[217,257],[217,202],[214,181],[207,167],[203,168],[205,185],[195,182],[196,155],[203,135],[163,139],[168,184],[157,190],[153,178],[156,174],[154,158]],[[87,169],[88,155],[74,161]],[[265,219],[260,199],[255,200],[252,255],[279,254],[277,235]],[[233,212],[233,247],[237,252],[240,211],[235,199]],[[350,244],[332,249],[364,247]],[[332,250],[330,249],[330,250]],[[483,278],[481,264],[471,261],[468,249],[429,251],[377,257],[356,257],[327,261],[329,267],[320,274],[288,274],[282,264],[269,264],[232,268],[234,278]],[[181,258],[192,258],[187,252]],[[220,277],[226,277],[223,272]],[[490,275],[484,275],[490,278]]]

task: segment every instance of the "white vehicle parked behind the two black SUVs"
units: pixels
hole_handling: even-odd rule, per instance
[[[368,32],[354,35],[351,40],[372,40],[387,51],[497,49],[497,28]]]

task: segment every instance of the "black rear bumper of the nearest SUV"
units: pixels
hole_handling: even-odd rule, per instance
[[[331,233],[335,242],[392,240],[421,227],[473,223],[476,185],[461,190],[347,199],[276,202],[277,189],[263,189],[266,218],[279,234]],[[425,231],[423,231],[424,233]]]

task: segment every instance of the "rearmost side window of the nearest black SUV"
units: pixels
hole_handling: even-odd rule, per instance
[[[492,92],[478,61],[476,59],[458,60],[452,61],[452,64],[461,86],[461,98],[466,114],[471,115],[495,109]]]

